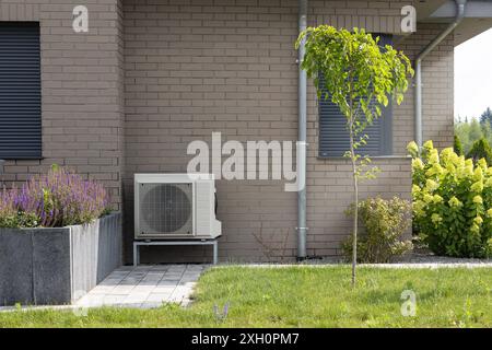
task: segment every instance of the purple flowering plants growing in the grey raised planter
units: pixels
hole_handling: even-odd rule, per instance
[[[0,195],[0,226],[59,228],[89,223],[108,211],[104,187],[80,175],[54,166],[21,189],[3,189]]]

